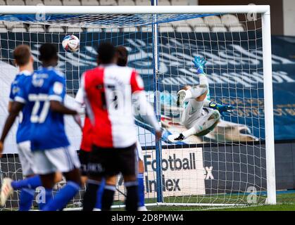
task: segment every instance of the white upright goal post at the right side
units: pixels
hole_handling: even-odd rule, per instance
[[[267,204],[275,205],[275,142],[272,102],[272,51],[270,33],[270,8],[262,14],[262,38],[263,38],[263,84],[264,84],[264,108],[265,108],[265,151],[266,151],[266,178],[268,198]]]

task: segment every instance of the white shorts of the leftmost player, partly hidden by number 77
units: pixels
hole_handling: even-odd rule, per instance
[[[20,164],[22,165],[23,176],[34,174],[34,162],[30,141],[18,143],[18,158],[20,159]]]

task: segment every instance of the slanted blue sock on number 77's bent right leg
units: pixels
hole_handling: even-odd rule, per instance
[[[73,181],[68,181],[68,183],[56,193],[54,199],[43,207],[43,211],[63,210],[68,202],[75,197],[79,189],[79,184]]]

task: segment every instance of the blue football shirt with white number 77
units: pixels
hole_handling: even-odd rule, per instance
[[[23,91],[23,98],[31,108],[30,141],[32,150],[51,150],[69,146],[63,115],[52,112],[50,101],[63,103],[65,77],[54,68],[40,68],[32,75],[31,84]],[[21,91],[19,92],[21,93]]]

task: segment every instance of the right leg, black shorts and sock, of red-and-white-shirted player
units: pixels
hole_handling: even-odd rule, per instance
[[[137,181],[137,150],[136,144],[118,152],[120,172],[124,177],[124,184],[127,191],[125,205],[130,212],[137,211],[138,208],[138,181]]]

